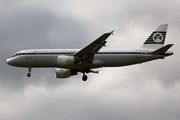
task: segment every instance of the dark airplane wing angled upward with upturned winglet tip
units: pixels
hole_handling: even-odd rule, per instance
[[[93,59],[94,55],[106,44],[106,39],[113,34],[114,31],[105,33],[94,42],[78,51],[75,56],[79,59]]]

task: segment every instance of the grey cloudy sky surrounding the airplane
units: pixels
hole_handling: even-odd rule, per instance
[[[179,0],[1,0],[1,120],[179,120]],[[107,48],[138,48],[168,23],[173,56],[100,74],[56,79],[55,68],[8,66],[29,48],[83,48],[115,30]]]

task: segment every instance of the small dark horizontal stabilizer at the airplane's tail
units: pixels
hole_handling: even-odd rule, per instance
[[[164,54],[170,47],[172,47],[174,44],[168,44],[166,46],[163,46],[157,50],[155,50],[154,52],[152,52],[153,55],[161,55]]]

